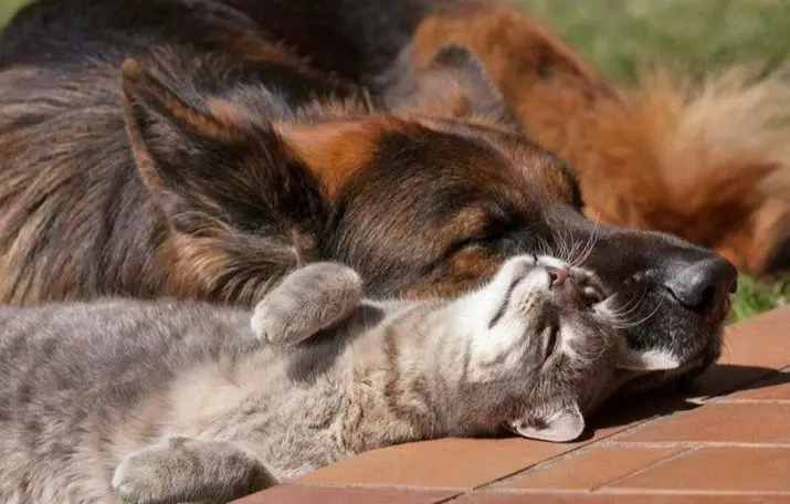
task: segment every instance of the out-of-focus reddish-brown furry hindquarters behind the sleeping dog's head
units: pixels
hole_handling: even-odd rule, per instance
[[[470,48],[515,117],[577,172],[584,212],[668,231],[739,269],[790,269],[790,78],[663,67],[618,88],[503,0],[224,0],[314,65],[386,93],[443,44]],[[759,69],[754,69],[759,71]]]

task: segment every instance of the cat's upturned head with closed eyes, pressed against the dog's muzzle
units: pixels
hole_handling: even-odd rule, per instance
[[[465,412],[464,423],[571,441],[584,429],[583,414],[623,381],[677,366],[629,349],[597,284],[555,258],[523,255],[454,304],[467,345],[460,374],[473,396],[466,403],[483,405]]]

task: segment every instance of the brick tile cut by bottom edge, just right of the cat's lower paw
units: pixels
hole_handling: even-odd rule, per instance
[[[278,485],[234,504],[433,504],[453,495],[453,492],[436,491]]]

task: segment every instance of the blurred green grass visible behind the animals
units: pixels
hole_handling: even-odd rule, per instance
[[[0,0],[0,24],[29,1]],[[731,63],[773,66],[790,55],[790,0],[517,1],[617,82],[633,82],[645,61],[680,64],[702,76]],[[741,275],[730,319],[789,301],[790,276]]]

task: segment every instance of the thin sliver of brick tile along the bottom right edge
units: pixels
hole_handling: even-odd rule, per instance
[[[790,504],[790,495],[645,495],[475,492],[449,504]]]

